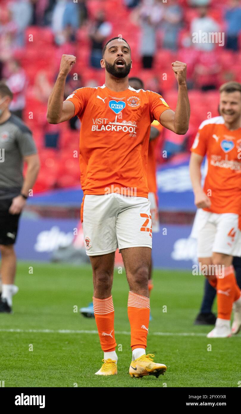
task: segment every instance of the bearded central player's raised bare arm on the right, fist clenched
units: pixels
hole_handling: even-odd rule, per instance
[[[186,134],[189,128],[190,104],[186,86],[186,63],[172,63],[175,77],[178,82],[178,95],[176,111],[167,109],[160,115],[160,123],[178,135]]]

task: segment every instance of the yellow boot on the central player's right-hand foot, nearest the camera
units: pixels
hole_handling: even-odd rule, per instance
[[[167,367],[163,363],[155,363],[150,357],[154,357],[153,354],[142,355],[135,361],[131,362],[129,374],[131,377],[141,378],[144,375],[155,375],[156,378],[159,375],[164,375]]]

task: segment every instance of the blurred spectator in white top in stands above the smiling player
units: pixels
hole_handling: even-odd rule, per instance
[[[193,46],[198,50],[212,51],[215,48],[215,43],[202,41],[201,36],[202,34],[208,35],[212,32],[218,32],[219,26],[217,22],[215,22],[215,20],[212,19],[212,17],[207,16],[207,7],[199,7],[198,13],[199,17],[196,17],[191,22],[191,36],[198,36],[198,42],[193,41]]]

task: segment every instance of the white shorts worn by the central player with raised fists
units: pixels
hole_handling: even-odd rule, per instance
[[[84,244],[88,256],[129,247],[152,248],[150,201],[117,193],[85,195],[82,206]]]

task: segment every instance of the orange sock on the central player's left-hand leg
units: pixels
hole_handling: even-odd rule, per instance
[[[107,299],[93,297],[95,322],[104,352],[115,351],[114,306],[112,296]]]

